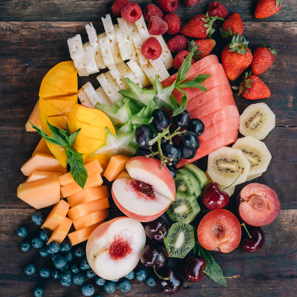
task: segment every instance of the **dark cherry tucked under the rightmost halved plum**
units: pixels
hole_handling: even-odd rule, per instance
[[[242,232],[242,240],[240,242],[241,247],[248,252],[255,252],[261,249],[265,243],[265,236],[260,227],[251,227],[248,226],[247,230],[251,235],[251,238],[248,237],[247,232]]]

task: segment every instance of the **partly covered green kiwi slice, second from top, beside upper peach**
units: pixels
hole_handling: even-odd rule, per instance
[[[195,176],[187,169],[181,168],[176,171],[174,179],[176,191],[181,191],[198,198],[201,195],[201,188]]]

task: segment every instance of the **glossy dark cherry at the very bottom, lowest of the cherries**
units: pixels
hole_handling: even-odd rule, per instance
[[[177,276],[174,269],[171,267],[163,268],[159,274],[162,278],[158,278],[157,285],[159,289],[167,295],[172,295],[179,292],[184,284],[184,281],[181,277]]]

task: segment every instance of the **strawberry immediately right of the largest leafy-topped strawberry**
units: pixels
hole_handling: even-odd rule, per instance
[[[261,47],[254,50],[251,62],[251,72],[254,75],[260,75],[271,67],[274,62],[276,50],[266,46],[265,43]]]

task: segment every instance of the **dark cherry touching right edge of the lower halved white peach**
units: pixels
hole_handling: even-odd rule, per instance
[[[143,249],[140,261],[146,267],[155,267],[160,269],[168,264],[168,253],[165,247],[155,247],[151,245],[145,246]]]

